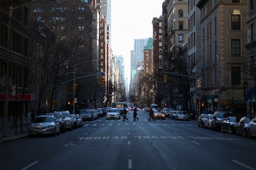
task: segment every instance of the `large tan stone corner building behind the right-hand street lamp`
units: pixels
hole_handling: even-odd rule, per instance
[[[247,1],[200,0],[201,60],[198,84],[206,97],[206,106],[217,110],[220,86],[221,110],[244,114],[244,85],[247,80]],[[219,54],[219,55],[218,55]],[[218,71],[220,64],[220,71]],[[220,76],[220,82],[218,82]]]

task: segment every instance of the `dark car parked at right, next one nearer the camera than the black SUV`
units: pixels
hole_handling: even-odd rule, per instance
[[[229,134],[236,132],[240,119],[241,117],[227,117],[226,120],[222,122],[221,132],[227,131]]]

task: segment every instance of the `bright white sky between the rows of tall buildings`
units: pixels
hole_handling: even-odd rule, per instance
[[[164,0],[111,0],[111,49],[113,55],[123,55],[128,81],[134,39],[152,38],[152,20],[162,15],[162,2]]]

